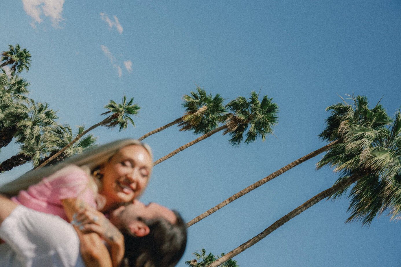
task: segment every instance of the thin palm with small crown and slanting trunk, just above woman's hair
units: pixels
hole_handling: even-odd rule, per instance
[[[40,169],[47,165],[49,162],[53,161],[55,158],[59,157],[61,153],[71,147],[74,143],[76,143],[81,137],[86,135],[89,131],[95,129],[98,126],[107,126],[107,128],[114,128],[115,126],[119,127],[119,130],[124,130],[128,126],[128,122],[130,122],[133,126],[135,126],[134,120],[130,117],[131,115],[138,114],[138,110],[140,110],[140,106],[138,104],[133,104],[134,98],[131,98],[130,101],[127,102],[127,97],[123,96],[122,104],[117,104],[113,100],[109,101],[109,104],[105,105],[104,108],[108,109],[108,111],[102,113],[101,115],[110,114],[102,120],[101,122],[92,125],[91,127],[87,128],[87,130],[81,132],[81,134],[77,135],[73,141],[71,141],[68,145],[63,147],[60,151],[55,153],[49,159],[41,163],[36,169]]]

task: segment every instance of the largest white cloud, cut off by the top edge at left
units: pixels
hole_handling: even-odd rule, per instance
[[[61,13],[64,0],[22,0],[22,4],[24,4],[26,14],[32,18],[30,25],[33,28],[36,28],[36,22],[43,21],[42,13],[51,19],[53,28],[61,28],[59,24],[63,20]]]

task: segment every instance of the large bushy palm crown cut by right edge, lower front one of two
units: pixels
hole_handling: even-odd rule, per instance
[[[374,114],[369,112],[365,114],[369,118],[375,118]],[[375,123],[365,123],[370,126],[352,125],[349,127],[349,132],[343,136],[345,144],[334,146],[320,161],[318,167],[332,165],[335,167],[334,171],[340,172],[337,183],[353,174],[360,176],[348,193],[351,200],[348,211],[351,214],[347,222],[361,221],[363,225],[370,225],[376,215],[388,209],[392,219],[399,216],[400,124],[401,116],[400,112],[397,112],[393,123],[389,126],[373,128],[372,126],[377,125]],[[340,197],[346,192],[347,188],[342,189],[332,195],[332,198]]]

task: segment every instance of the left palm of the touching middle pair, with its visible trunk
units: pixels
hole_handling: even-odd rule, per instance
[[[178,126],[181,127],[180,130],[194,130],[195,133],[198,133],[198,131],[206,133],[208,130],[213,130],[217,127],[217,120],[215,124],[210,123],[209,120],[213,120],[213,118],[216,118],[219,114],[225,112],[224,107],[221,105],[223,98],[221,98],[219,94],[213,98],[211,94],[207,95],[204,89],[196,86],[196,92],[190,92],[190,95],[184,95],[183,99],[184,103],[182,103],[182,106],[185,108],[185,114],[183,116],[160,128],[146,133],[138,140],[142,141],[146,137],[177,123],[179,123]]]

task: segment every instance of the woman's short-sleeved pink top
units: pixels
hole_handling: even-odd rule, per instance
[[[89,186],[89,176],[75,165],[69,165],[43,178],[40,183],[22,190],[12,201],[30,209],[60,216],[67,221],[61,204],[63,199],[81,199],[96,208],[95,194]]]

